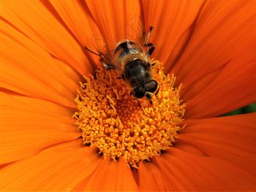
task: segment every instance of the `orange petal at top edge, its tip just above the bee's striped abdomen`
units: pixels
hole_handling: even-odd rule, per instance
[[[118,42],[127,37],[127,26],[135,17],[140,17],[138,0],[132,1],[86,1],[91,15],[103,37]]]

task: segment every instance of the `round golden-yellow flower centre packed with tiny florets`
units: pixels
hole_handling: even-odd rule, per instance
[[[185,112],[179,99],[181,86],[173,88],[175,77],[165,76],[158,61],[152,74],[160,85],[152,105],[130,96],[127,82],[103,68],[95,78],[86,77],[87,82],[80,83],[74,118],[84,144],[97,146],[99,153],[114,161],[123,157],[135,168],[173,144]]]

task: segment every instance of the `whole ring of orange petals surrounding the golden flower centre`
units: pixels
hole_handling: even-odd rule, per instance
[[[3,191],[235,191],[256,188],[255,1],[1,1]],[[86,147],[72,115],[99,58],[132,15],[154,26],[152,58],[182,83],[187,124],[173,147],[130,169]]]

